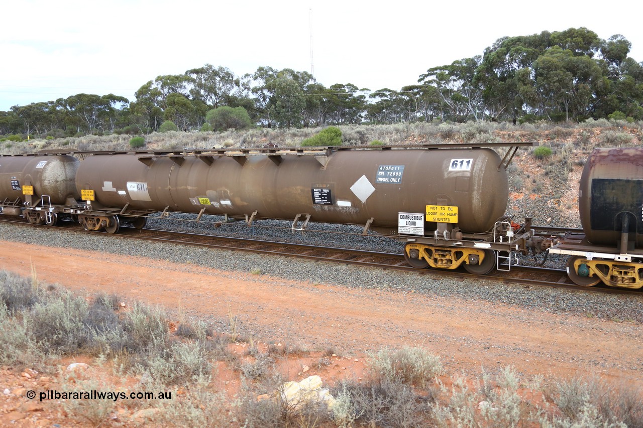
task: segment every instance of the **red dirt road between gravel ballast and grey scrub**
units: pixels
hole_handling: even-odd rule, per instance
[[[550,314],[502,303],[316,285],[143,257],[3,242],[0,268],[201,319],[239,317],[246,334],[361,356],[384,346],[424,346],[450,375],[512,364],[529,376],[592,375],[643,384],[640,325]]]

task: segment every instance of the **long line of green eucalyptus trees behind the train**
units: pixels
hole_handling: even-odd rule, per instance
[[[622,35],[602,40],[583,27],[502,37],[482,55],[430,68],[399,91],[325,87],[307,71],[273,67],[236,76],[227,67],[206,64],[150,80],[131,102],[114,94],[76,94],[15,105],[0,111],[0,134],[137,134],[164,124],[224,130],[433,120],[642,120],[643,62],[630,58],[630,49]]]

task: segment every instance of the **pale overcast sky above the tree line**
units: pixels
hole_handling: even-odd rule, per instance
[[[643,61],[633,1],[20,0],[1,10],[0,111],[78,93],[133,101],[156,76],[204,64],[237,76],[311,71],[311,40],[320,84],[372,91],[415,84],[500,37],[581,26],[624,35]]]

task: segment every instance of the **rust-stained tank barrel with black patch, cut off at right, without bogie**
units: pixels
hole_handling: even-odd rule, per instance
[[[578,202],[592,244],[617,245],[625,237],[643,246],[643,148],[595,148],[583,169]]]

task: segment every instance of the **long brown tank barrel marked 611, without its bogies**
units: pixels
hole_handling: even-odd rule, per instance
[[[95,155],[77,174],[107,207],[365,224],[397,229],[399,212],[458,206],[464,231],[487,231],[505,213],[509,186],[487,148],[338,150],[248,156]]]

